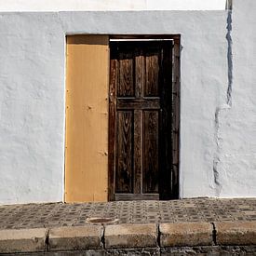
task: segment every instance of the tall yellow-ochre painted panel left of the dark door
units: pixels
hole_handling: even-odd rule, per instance
[[[107,35],[67,36],[65,201],[107,201]]]

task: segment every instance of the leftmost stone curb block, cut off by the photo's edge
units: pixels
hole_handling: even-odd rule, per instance
[[[46,228],[0,230],[0,254],[44,251]]]

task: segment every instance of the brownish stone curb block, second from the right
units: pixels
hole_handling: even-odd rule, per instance
[[[161,223],[160,246],[209,246],[212,231],[212,224],[207,222]]]

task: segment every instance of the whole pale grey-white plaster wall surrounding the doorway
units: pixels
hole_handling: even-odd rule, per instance
[[[181,34],[180,195],[256,196],[255,13],[2,12],[0,204],[63,198],[66,34]]]

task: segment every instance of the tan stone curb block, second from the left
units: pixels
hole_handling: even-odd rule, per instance
[[[100,249],[101,225],[57,227],[49,230],[48,250]]]

